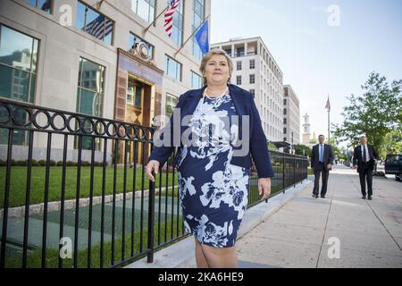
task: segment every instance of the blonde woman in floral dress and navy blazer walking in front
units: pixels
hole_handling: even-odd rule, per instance
[[[175,108],[183,117],[191,115],[184,124],[186,132],[181,130],[174,165],[179,171],[184,224],[196,238],[198,267],[237,266],[234,246],[247,208],[251,156],[258,170],[261,199],[271,193],[273,171],[261,120],[252,95],[228,84],[232,69],[225,52],[209,52],[200,67],[205,87],[182,95]],[[237,116],[249,116],[247,139],[239,134],[242,126]],[[183,125],[172,118],[172,125]],[[246,156],[236,154],[239,138],[249,144]],[[151,181],[155,181],[152,172],[157,173],[172,149],[172,145],[154,148],[147,164]]]

